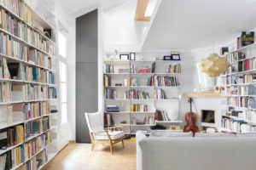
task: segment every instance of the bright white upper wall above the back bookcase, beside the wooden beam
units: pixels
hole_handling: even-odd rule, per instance
[[[148,22],[135,21],[137,1],[131,0],[104,13],[104,50],[136,51],[143,42]]]

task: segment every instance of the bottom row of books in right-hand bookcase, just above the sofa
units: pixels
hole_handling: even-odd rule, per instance
[[[222,118],[222,127],[229,129],[233,133],[256,133],[256,127],[241,120]]]

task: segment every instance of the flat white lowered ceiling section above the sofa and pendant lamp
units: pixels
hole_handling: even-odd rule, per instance
[[[254,28],[255,0],[162,0],[143,48],[206,48]]]

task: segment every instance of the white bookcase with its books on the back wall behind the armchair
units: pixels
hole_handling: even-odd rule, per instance
[[[143,57],[145,56],[143,55]],[[180,73],[180,63],[180,60],[155,60],[149,58],[148,60],[103,61],[103,77],[105,81],[103,83],[103,101],[105,108],[110,104],[121,105],[121,107],[123,107],[123,111],[118,112],[111,112],[106,109],[105,114],[107,116],[113,116],[111,118],[112,120],[117,120],[116,123],[114,123],[113,120],[114,124],[126,121],[127,125],[125,125],[125,131],[127,130],[127,127],[130,127],[130,131],[125,132],[126,134],[134,134],[133,131],[136,132],[138,127],[151,131],[149,127],[155,126],[157,123],[154,122],[156,108],[167,110],[169,103],[173,103],[171,105],[174,107],[177,106],[177,110],[179,108],[180,98],[177,96],[179,96],[178,91],[181,86],[178,81],[182,75]],[[140,69],[140,71],[138,69]],[[128,78],[126,79],[126,77]],[[149,79],[149,77],[152,78]],[[110,80],[111,83],[108,83],[108,80]],[[134,80],[135,82],[132,82]],[[149,84],[153,86],[148,86]],[[137,94],[137,92],[139,92],[139,94]],[[125,94],[125,96],[123,94]],[[143,97],[141,97],[141,95],[143,95]],[[163,95],[165,95],[165,97]],[[139,106],[146,106],[148,107],[148,110],[140,112],[138,109]],[[133,110],[130,111],[130,107],[133,107]],[[109,122],[110,119],[108,119],[109,116],[107,116],[105,118],[107,118],[106,120]],[[137,125],[136,122],[144,122],[144,124]],[[107,124],[109,126],[109,123]]]

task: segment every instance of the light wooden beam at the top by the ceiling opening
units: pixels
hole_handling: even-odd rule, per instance
[[[145,17],[146,9],[148,7],[148,0],[137,0],[137,8],[134,20],[150,20],[150,17]]]

